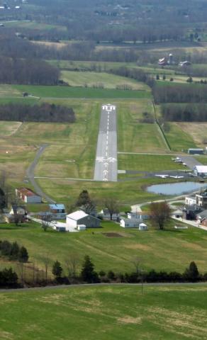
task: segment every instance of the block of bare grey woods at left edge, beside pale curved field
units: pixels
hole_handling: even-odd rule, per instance
[[[0,57],[0,83],[55,85],[60,70],[43,60]]]

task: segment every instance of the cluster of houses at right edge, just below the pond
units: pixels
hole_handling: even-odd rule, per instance
[[[195,196],[186,196],[184,207],[174,211],[173,214],[175,217],[207,226],[207,191],[196,193]]]

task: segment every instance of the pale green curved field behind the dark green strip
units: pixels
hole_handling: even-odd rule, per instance
[[[104,72],[62,71],[60,79],[66,81],[70,86],[93,87],[97,84],[103,84],[106,89],[116,89],[116,86],[127,85],[133,90],[150,91],[150,88],[144,83]]]

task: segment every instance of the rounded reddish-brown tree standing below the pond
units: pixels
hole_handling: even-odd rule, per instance
[[[169,220],[170,208],[167,202],[157,202],[150,204],[150,214],[152,221],[158,225],[159,229],[164,229],[164,224]]]

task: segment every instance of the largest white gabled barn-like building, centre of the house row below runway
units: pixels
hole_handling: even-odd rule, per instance
[[[72,228],[77,228],[78,225],[85,225],[86,228],[99,228],[100,222],[99,218],[88,215],[82,210],[72,212],[66,217],[66,224]]]

